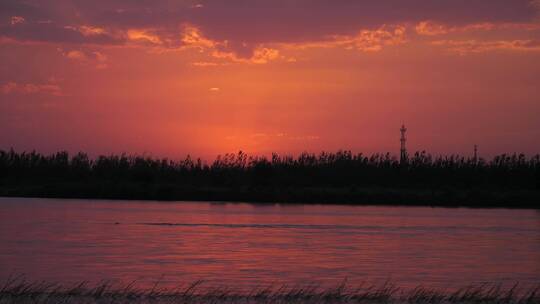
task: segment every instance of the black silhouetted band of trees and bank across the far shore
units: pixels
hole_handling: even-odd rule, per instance
[[[281,203],[540,207],[540,155],[491,160],[350,151],[213,162],[0,150],[0,195]]]

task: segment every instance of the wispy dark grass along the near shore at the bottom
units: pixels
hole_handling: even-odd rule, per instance
[[[87,283],[62,286],[46,282],[8,280],[0,286],[0,303],[540,303],[540,287],[522,290],[517,285],[481,285],[456,291],[425,287],[402,290],[393,284],[359,286],[345,284],[322,289],[317,286],[254,288],[247,292],[227,287],[202,288],[201,281],[175,289],[139,289],[134,283],[114,286]]]

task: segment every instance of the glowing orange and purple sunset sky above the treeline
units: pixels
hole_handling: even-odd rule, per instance
[[[540,152],[540,1],[0,2],[0,149]]]

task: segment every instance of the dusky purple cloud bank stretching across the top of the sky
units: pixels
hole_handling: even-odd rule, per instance
[[[25,22],[13,26],[14,16]],[[17,40],[63,43],[124,43],[130,29],[178,37],[194,24],[215,40],[242,45],[317,40],[351,35],[383,24],[434,20],[452,26],[479,22],[531,22],[530,0],[7,0],[0,3],[0,35]],[[82,26],[102,28],[85,35]]]

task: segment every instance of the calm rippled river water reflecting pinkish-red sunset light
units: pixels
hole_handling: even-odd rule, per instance
[[[540,283],[540,213],[0,198],[0,279]]]

